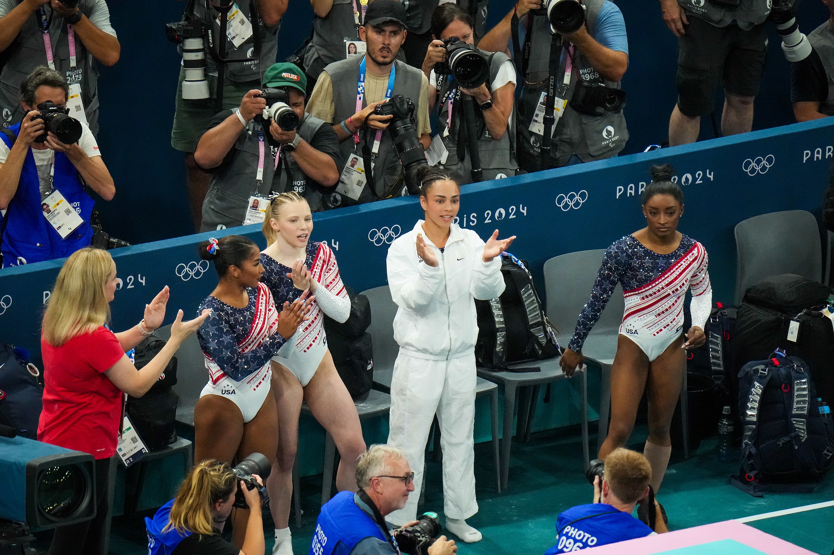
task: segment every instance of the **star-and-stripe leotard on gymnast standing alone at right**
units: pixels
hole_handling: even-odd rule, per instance
[[[620,333],[637,343],[650,361],[681,336],[687,289],[692,289],[692,325],[703,328],[710,316],[712,288],[701,243],[684,235],[674,252],[658,254],[626,235],[605,251],[590,301],[570,339],[570,350],[582,349],[618,282],[625,295]]]

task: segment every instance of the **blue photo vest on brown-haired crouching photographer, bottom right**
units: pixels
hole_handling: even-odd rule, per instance
[[[605,503],[571,507],[556,521],[559,537],[545,555],[624,542],[653,533],[643,522]]]

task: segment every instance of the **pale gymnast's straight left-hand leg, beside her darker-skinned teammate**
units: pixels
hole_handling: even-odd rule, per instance
[[[299,447],[299,413],[304,389],[299,379],[278,363],[272,363],[272,394],[278,415],[278,454],[269,475],[269,510],[275,529],[289,526],[293,498],[293,465]]]

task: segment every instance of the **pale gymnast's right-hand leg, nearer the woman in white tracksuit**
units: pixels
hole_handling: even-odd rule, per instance
[[[339,378],[329,350],[324,353],[319,368],[304,388],[304,400],[315,419],[333,437],[342,456],[336,473],[336,488],[340,492],[355,492],[358,488],[357,459],[365,450],[362,425],[354,400],[350,398],[342,378]]]

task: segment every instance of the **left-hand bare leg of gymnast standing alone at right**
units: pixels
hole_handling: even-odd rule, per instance
[[[599,458],[605,459],[608,453],[623,447],[631,436],[648,373],[646,353],[625,335],[618,336],[617,354],[611,365],[611,423]]]

